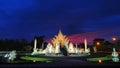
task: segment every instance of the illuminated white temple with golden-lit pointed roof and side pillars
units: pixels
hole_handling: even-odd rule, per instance
[[[55,38],[52,39],[51,43],[47,44],[47,47],[45,49],[39,49],[36,48],[37,45],[37,39],[34,40],[34,48],[33,48],[33,52],[32,55],[35,54],[45,54],[45,55],[49,55],[49,54],[59,54],[59,55],[63,55],[61,49],[64,49],[68,56],[71,56],[71,54],[73,55],[86,55],[86,54],[90,54],[90,49],[87,48],[87,40],[84,40],[84,44],[85,44],[85,48],[78,48],[77,44],[74,45],[72,42],[69,42],[69,40],[67,39],[67,37],[65,35],[62,34],[61,31],[59,31],[58,35],[55,35]]]

